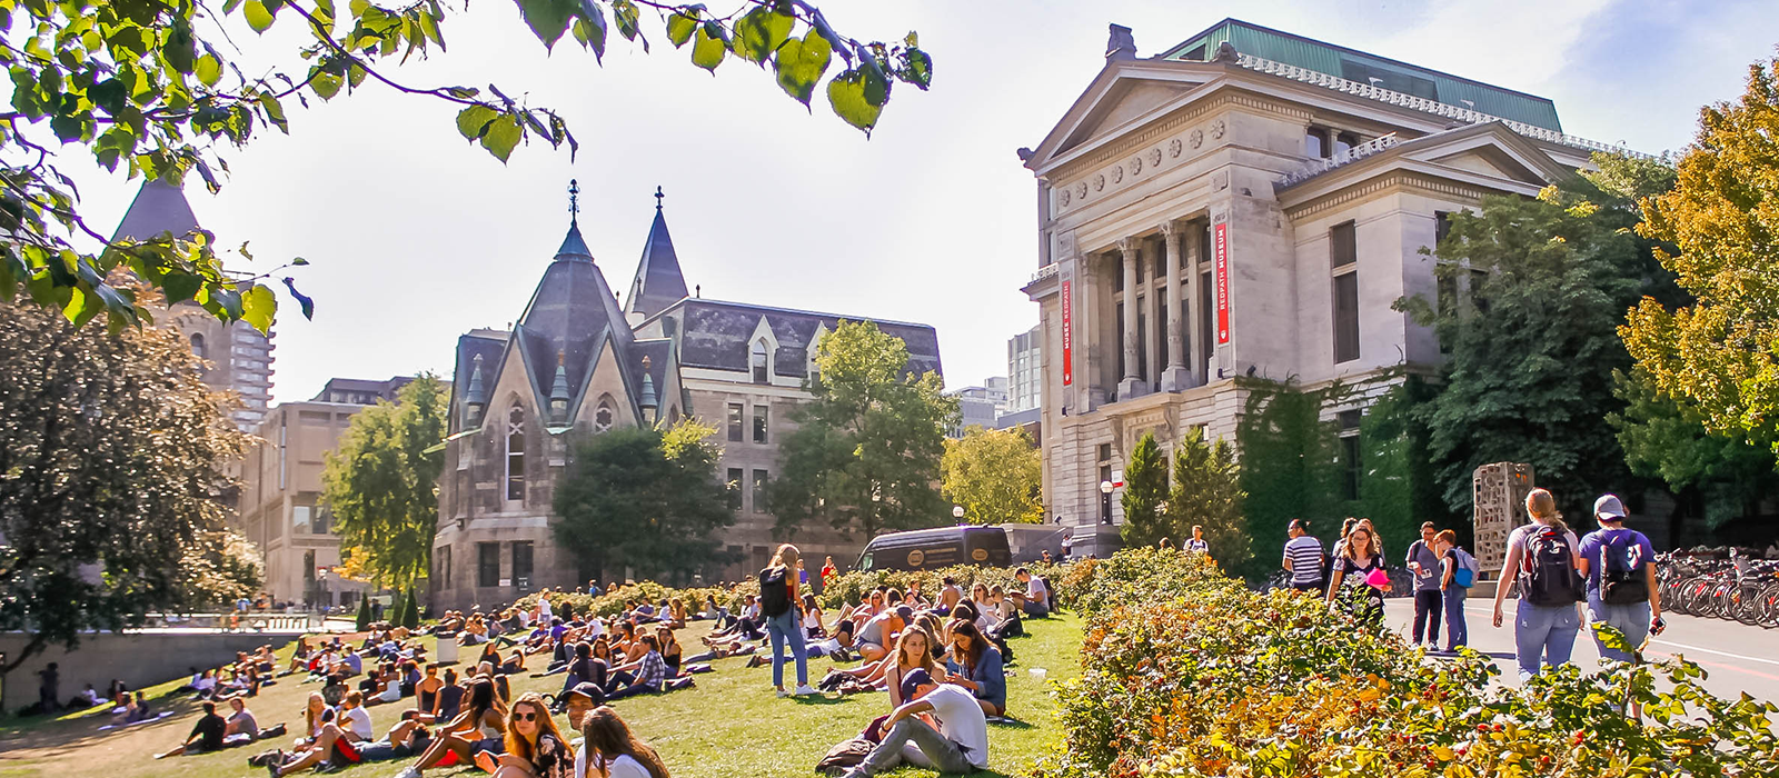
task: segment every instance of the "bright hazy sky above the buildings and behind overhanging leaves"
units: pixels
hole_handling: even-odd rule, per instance
[[[199,220],[224,243],[251,240],[258,266],[311,261],[295,275],[315,320],[281,300],[274,398],[306,400],[329,377],[450,373],[459,334],[523,311],[568,227],[569,178],[619,293],[660,185],[704,297],[930,323],[950,387],[1003,375],[1007,337],[1037,322],[1019,293],[1037,265],[1035,185],[1014,149],[1037,146],[1089,85],[1112,21],[1149,57],[1236,14],[1551,98],[1569,133],[1651,153],[1685,146],[1699,105],[1736,98],[1779,43],[1763,0],[818,5],[859,39],[918,30],[936,60],[932,91],[897,85],[868,140],[820,91],[811,115],[747,62],[706,75],[658,21],[653,53],[614,32],[601,67],[573,41],[546,55],[514,5],[480,0],[445,27],[448,53],[391,75],[528,94],[568,117],[576,160],[530,146],[502,165],[463,142],[450,107],[377,87],[295,108],[290,137],[228,153],[221,195],[189,187]],[[269,41],[294,41],[292,21]],[[246,27],[233,36],[265,50]],[[116,224],[135,185],[82,179],[94,224]]]

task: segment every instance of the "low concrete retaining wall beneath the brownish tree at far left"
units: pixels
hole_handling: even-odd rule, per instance
[[[14,712],[37,702],[41,680],[37,671],[50,663],[60,664],[62,682],[57,696],[66,703],[87,684],[93,684],[100,695],[105,693],[112,679],[123,679],[132,689],[144,689],[189,677],[189,668],[194,666],[205,670],[233,663],[235,652],[254,650],[267,643],[276,650],[294,639],[297,639],[295,634],[267,632],[89,634],[80,638],[80,647],[73,652],[57,645],[7,673],[0,705]],[[20,632],[4,632],[0,634],[0,652],[16,657],[28,641]]]

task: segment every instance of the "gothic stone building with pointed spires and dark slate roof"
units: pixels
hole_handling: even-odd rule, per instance
[[[571,222],[512,330],[457,339],[432,606],[487,607],[543,586],[585,584],[551,535],[551,497],[571,442],[687,416],[717,426],[719,478],[737,512],[722,542],[738,561],[706,568],[706,579],[737,581],[765,567],[777,544],[765,483],[793,428],[792,409],[809,398],[804,378],[815,343],[840,320],[870,322],[688,297],[658,204],[619,306]],[[939,369],[932,327],[875,323],[907,343],[909,369]],[[850,561],[865,540],[827,528],[797,533],[815,560]]]

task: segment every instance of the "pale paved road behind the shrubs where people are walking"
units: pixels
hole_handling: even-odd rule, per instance
[[[1384,618],[1402,634],[1414,623],[1414,600],[1389,599]],[[1501,680],[1519,684],[1514,664],[1514,604],[1503,607],[1501,629],[1491,627],[1493,600],[1471,599],[1466,606],[1469,645],[1496,657]],[[1667,631],[1649,643],[1649,655],[1685,655],[1710,675],[1704,687],[1726,698],[1743,691],[1758,700],[1779,702],[1779,629],[1749,627],[1720,618],[1665,615]],[[1574,663],[1599,666],[1599,650],[1583,623],[1574,641]],[[1443,643],[1441,643],[1443,645]]]

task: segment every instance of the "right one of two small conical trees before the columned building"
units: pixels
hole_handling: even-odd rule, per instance
[[[1174,444],[1174,487],[1167,494],[1165,524],[1185,540],[1192,528],[1204,528],[1204,544],[1224,570],[1244,572],[1254,558],[1247,517],[1242,513],[1242,471],[1235,448],[1224,439],[1204,441],[1204,428],[1192,426]]]

